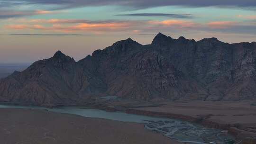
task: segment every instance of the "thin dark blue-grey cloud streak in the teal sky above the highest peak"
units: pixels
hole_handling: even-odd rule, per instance
[[[116,16],[194,18],[194,16],[191,14],[167,14],[167,13],[133,13],[133,14],[120,14]]]

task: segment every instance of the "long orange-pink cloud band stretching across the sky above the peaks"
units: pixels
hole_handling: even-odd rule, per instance
[[[65,33],[156,33],[159,31],[215,31],[255,34],[256,25],[237,21],[211,21],[198,23],[192,20],[106,20],[87,19],[19,19],[5,27],[13,30],[41,30]],[[18,23],[18,24],[17,24]]]

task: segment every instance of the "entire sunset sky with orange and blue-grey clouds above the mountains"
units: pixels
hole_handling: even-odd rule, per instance
[[[256,0],[0,0],[0,63],[76,61],[131,37],[256,41]]]

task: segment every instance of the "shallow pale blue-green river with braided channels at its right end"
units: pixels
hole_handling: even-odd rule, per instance
[[[226,144],[233,137],[221,133],[221,130],[198,126],[189,122],[175,120],[170,118],[147,117],[141,115],[127,114],[123,112],[107,112],[98,109],[84,109],[78,107],[61,107],[61,108],[42,108],[0,105],[0,108],[33,108],[47,109],[51,112],[75,114],[82,117],[105,118],[123,122],[144,123],[145,128],[157,133],[175,139],[178,141],[189,142],[189,144]]]

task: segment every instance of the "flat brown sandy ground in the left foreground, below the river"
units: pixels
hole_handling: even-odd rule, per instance
[[[52,113],[0,109],[0,144],[179,144],[142,124]]]

